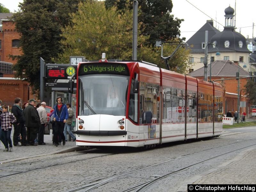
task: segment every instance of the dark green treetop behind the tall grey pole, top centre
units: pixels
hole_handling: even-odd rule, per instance
[[[132,10],[133,0],[105,0],[106,8],[117,7],[118,10]],[[180,36],[180,24],[183,19],[175,18],[171,14],[171,0],[138,0],[141,22],[141,33],[150,36],[148,43],[154,46],[156,40],[167,41]],[[185,40],[183,38],[182,40]]]

